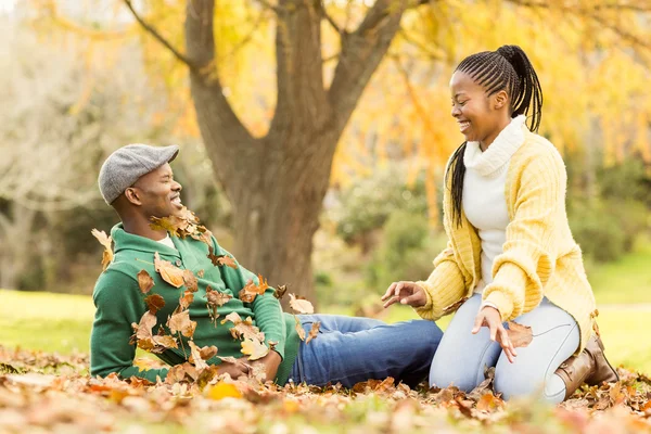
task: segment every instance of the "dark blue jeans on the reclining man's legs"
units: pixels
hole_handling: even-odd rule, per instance
[[[294,383],[353,387],[393,376],[413,387],[427,376],[443,332],[433,321],[386,324],[371,318],[299,315],[306,333],[316,321],[319,335],[301,343],[290,379]]]

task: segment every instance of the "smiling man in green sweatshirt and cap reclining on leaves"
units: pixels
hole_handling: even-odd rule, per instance
[[[272,289],[253,299],[240,295],[247,282],[264,289],[263,282],[234,259],[230,266],[219,260],[214,265],[215,258],[231,256],[209,232],[170,237],[159,225],[152,225],[152,218],[178,219],[186,213],[181,186],[169,165],[178,152],[176,145],[130,144],[108,156],[100,170],[102,196],[122,222],[111,231],[115,256],[93,292],[92,375],[116,372],[122,378],[165,379],[168,369],[141,371],[133,367],[136,347],[129,341],[149,339],[149,347],[171,366],[187,361],[192,347],[214,345],[218,356],[212,354],[206,361],[217,366],[219,373],[238,378],[257,366],[280,385],[292,380],[315,385],[340,382],[350,387],[360,381],[393,376],[414,386],[425,379],[443,334],[434,322],[388,326],[367,318],[301,315],[297,318],[306,332],[320,322],[318,336],[306,344],[298,337],[294,316],[282,312]],[[165,275],[166,270],[182,270],[191,277],[178,282]],[[153,279],[151,291],[139,284],[139,273]],[[192,276],[196,277],[195,284]],[[215,298],[221,302],[215,304]],[[259,328],[261,341],[271,348],[266,356],[255,361],[241,358],[241,341],[233,337],[233,321],[227,319],[233,312],[241,319],[251,317]],[[136,334],[132,324],[139,324]],[[158,334],[154,337],[154,333]],[[193,355],[196,363],[199,353]],[[222,357],[239,360],[226,362]]]

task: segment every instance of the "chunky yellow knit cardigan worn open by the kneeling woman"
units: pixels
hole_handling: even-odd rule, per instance
[[[483,298],[494,303],[502,319],[510,321],[533,310],[547,296],[578,323],[578,353],[592,333],[597,310],[565,213],[565,165],[548,140],[523,129],[524,143],[511,157],[507,173],[507,241],[502,254],[495,258],[494,280],[484,289]],[[449,177],[445,183],[448,248],[434,259],[429,279],[417,282],[425,290],[427,302],[416,311],[434,321],[472,296],[482,276],[480,237],[463,213],[460,227],[452,222]]]

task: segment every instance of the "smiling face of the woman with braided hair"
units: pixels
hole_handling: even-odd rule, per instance
[[[488,146],[509,124],[507,93],[500,90],[490,97],[468,74],[457,71],[450,79],[452,117],[467,141]]]

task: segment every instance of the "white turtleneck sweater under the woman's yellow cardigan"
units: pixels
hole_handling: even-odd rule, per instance
[[[511,119],[485,152],[480,142],[465,144],[462,206],[482,241],[482,279],[475,293],[481,294],[484,286],[493,282],[493,261],[503,252],[507,241],[507,173],[511,156],[524,143],[525,120],[523,115]]]

